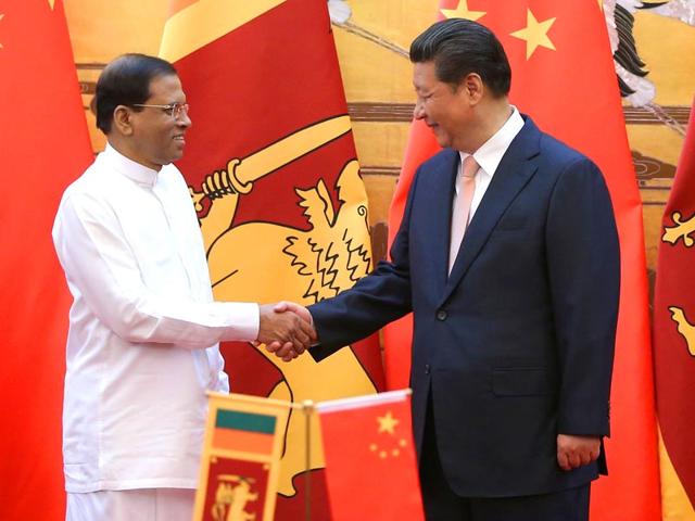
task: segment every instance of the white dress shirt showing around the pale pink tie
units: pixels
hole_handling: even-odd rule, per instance
[[[497,166],[502,157],[507,152],[509,144],[517,134],[523,127],[523,118],[519,114],[516,106],[511,106],[511,115],[505,122],[500,130],[497,130],[488,141],[485,141],[476,152],[473,152],[473,158],[480,165],[480,168],[476,173],[475,182],[476,190],[473,191],[473,199],[470,202],[470,213],[468,214],[468,223],[473,218],[473,214],[480,206],[485,191],[490,182],[492,182],[492,176],[495,175]],[[458,152],[460,155],[460,163],[458,164],[458,176],[456,178],[456,187],[454,198],[458,195],[458,178],[462,176],[462,165],[464,160],[470,155],[466,152]],[[454,201],[455,202],[455,201]]]

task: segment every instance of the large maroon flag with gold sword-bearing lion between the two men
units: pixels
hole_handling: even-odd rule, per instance
[[[215,298],[312,304],[371,267],[355,160],[325,0],[179,0],[160,54],[179,72],[193,127],[179,163],[197,205]],[[375,339],[316,363],[224,344],[233,392],[290,402],[376,392]],[[312,506],[329,519],[313,420]],[[304,513],[305,423],[290,412],[277,519]]]

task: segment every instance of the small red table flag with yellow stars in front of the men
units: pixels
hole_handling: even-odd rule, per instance
[[[316,405],[333,521],[424,520],[410,391]]]

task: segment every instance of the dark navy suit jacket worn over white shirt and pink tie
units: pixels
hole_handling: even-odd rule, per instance
[[[431,393],[444,474],[466,497],[570,488],[605,467],[602,456],[563,471],[556,439],[609,433],[620,282],[610,198],[589,158],[525,119],[451,276],[459,155],[444,150],[416,173],[392,262],[309,307],[317,359],[414,313],[416,444]]]

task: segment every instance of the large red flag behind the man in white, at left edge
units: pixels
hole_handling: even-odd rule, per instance
[[[61,0],[0,0],[0,519],[65,519],[70,294],[51,227],[91,161]]]

